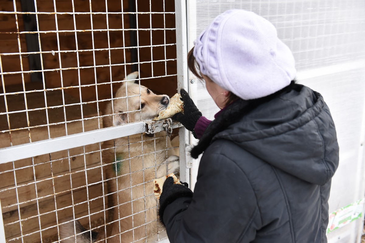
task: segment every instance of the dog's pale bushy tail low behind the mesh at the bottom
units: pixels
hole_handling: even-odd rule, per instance
[[[63,222],[67,223],[59,225],[59,236],[62,243],[90,243],[96,241],[99,233],[85,229],[78,220],[68,218]]]

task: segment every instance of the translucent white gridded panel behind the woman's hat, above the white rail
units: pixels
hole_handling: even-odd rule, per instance
[[[216,0],[214,4],[210,1],[192,1],[190,4],[189,12],[196,14],[196,20],[191,14],[189,48],[215,16],[238,8],[253,11],[276,27],[279,38],[293,52],[298,71],[365,57],[362,52],[365,2],[362,0]]]

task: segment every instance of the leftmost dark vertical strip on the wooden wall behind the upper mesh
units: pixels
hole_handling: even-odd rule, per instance
[[[21,0],[23,12],[35,12],[34,1]],[[23,14],[24,31],[37,31],[37,19],[35,14]],[[39,52],[38,33],[25,34],[27,43],[27,52]],[[42,70],[41,54],[28,55],[29,69]],[[34,82],[43,81],[42,72],[31,72],[30,80]]]

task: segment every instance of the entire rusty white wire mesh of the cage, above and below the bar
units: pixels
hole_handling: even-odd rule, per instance
[[[146,92],[176,93],[174,15],[165,0],[4,3],[0,148],[146,119]],[[137,92],[123,80],[133,71]],[[136,133],[0,164],[6,239],[160,239],[151,181],[178,170],[178,145]]]

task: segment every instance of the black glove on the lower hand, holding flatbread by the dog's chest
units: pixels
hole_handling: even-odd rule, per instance
[[[163,216],[165,208],[178,199],[179,197],[192,197],[193,192],[188,188],[188,183],[184,182],[181,184],[174,184],[174,179],[170,176],[168,177],[164,185],[162,186],[162,193],[160,196],[160,209],[158,210],[158,215],[160,215],[160,221],[164,223]]]

